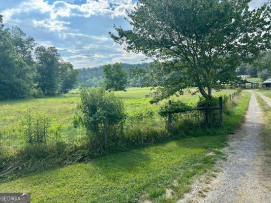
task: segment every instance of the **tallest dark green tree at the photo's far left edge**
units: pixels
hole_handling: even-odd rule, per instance
[[[16,53],[9,29],[4,29],[0,15],[0,100],[32,96],[31,68]]]

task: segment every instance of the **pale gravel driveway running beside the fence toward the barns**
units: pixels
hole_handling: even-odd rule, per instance
[[[227,161],[220,164],[222,172],[210,184],[195,182],[191,192],[179,202],[271,202],[270,174],[266,173],[271,165],[262,164],[265,156],[260,137],[262,119],[252,93],[245,123],[229,136]],[[203,188],[209,191],[202,193]]]

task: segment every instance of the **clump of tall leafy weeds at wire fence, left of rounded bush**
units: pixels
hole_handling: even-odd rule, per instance
[[[48,114],[32,113],[28,108],[22,120],[23,134],[27,143],[45,144],[49,137],[50,120]]]

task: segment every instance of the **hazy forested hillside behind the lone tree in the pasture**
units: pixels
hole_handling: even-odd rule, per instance
[[[145,82],[142,77],[130,77],[130,71],[138,69],[145,69],[145,66],[148,63],[138,63],[138,64],[129,64],[129,63],[119,63],[123,71],[127,73],[127,82],[125,87],[140,87],[141,83]],[[118,65],[117,65],[118,66]],[[105,82],[104,67],[88,67],[78,69],[79,71],[79,83],[84,83],[86,87],[100,87],[103,86]],[[119,66],[118,66],[119,67]],[[110,74],[108,74],[110,75]]]

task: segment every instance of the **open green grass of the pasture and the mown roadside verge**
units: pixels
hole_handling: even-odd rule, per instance
[[[148,89],[131,88],[126,93],[116,94],[124,99],[128,112],[158,109],[159,105],[150,105],[149,99],[144,98],[147,92]],[[203,129],[190,137],[56,167],[1,183],[0,191],[31,192],[32,202],[139,202],[143,199],[173,202],[189,190],[194,178],[203,173],[214,176],[212,170],[215,161],[223,157],[220,149],[226,144],[226,134],[242,122],[249,97],[249,93],[244,93],[236,99],[235,113],[225,115],[224,127],[215,133]],[[198,96],[186,92],[178,99],[195,104]],[[78,100],[78,94],[71,92],[51,98],[6,101],[0,104],[6,112],[1,112],[1,116],[16,123],[23,116],[23,110],[32,106],[33,110],[50,113],[55,122],[69,123]],[[171,189],[171,197],[165,195],[168,189]]]

